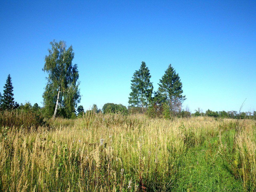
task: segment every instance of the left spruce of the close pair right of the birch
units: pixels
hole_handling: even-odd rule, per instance
[[[141,62],[141,67],[136,70],[131,80],[131,93],[129,104],[131,106],[141,106],[142,111],[151,99],[153,92],[153,84],[150,82],[151,75],[144,61]]]

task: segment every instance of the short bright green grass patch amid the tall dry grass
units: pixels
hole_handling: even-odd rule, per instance
[[[182,157],[172,191],[244,191],[242,181],[227,168],[218,153],[219,138],[190,147]]]

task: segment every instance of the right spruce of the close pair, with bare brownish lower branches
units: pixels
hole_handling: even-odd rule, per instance
[[[171,111],[180,111],[181,104],[185,100],[183,96],[182,83],[179,74],[173,69],[171,64],[165,71],[165,74],[160,79],[159,92],[166,98],[166,103]]]

